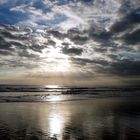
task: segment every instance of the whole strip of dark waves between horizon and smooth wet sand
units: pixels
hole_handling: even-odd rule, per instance
[[[140,96],[139,87],[95,88],[0,85],[0,102],[75,101],[102,97]]]

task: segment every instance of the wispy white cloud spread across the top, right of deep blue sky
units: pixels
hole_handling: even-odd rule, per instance
[[[17,25],[33,26],[35,28],[44,28],[45,26],[52,26],[67,31],[70,28],[88,28],[90,24],[98,24],[108,28],[117,18],[116,13],[120,7],[120,0],[95,0],[93,4],[85,4],[84,2],[68,2],[60,5],[59,0],[50,1],[44,0],[43,4],[49,10],[37,9],[33,7],[31,1],[29,4],[22,4],[11,8],[11,11],[22,12],[27,15],[27,19],[19,21]],[[59,20],[60,15],[67,17],[64,20]],[[59,17],[60,16],[60,17]],[[50,24],[48,24],[50,21]],[[23,22],[23,23],[22,23]]]

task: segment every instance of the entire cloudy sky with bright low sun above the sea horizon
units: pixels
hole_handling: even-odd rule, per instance
[[[139,0],[0,0],[0,84],[139,83]]]

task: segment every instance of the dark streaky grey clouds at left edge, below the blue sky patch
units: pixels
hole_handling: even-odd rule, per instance
[[[31,49],[36,52],[41,52],[45,48],[45,45],[40,45],[35,37],[28,28],[18,29],[14,26],[0,25],[1,50],[16,51]],[[52,42],[49,43],[52,44]]]

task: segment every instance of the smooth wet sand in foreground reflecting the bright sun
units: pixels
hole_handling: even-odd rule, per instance
[[[1,102],[0,140],[138,140],[139,99]]]

